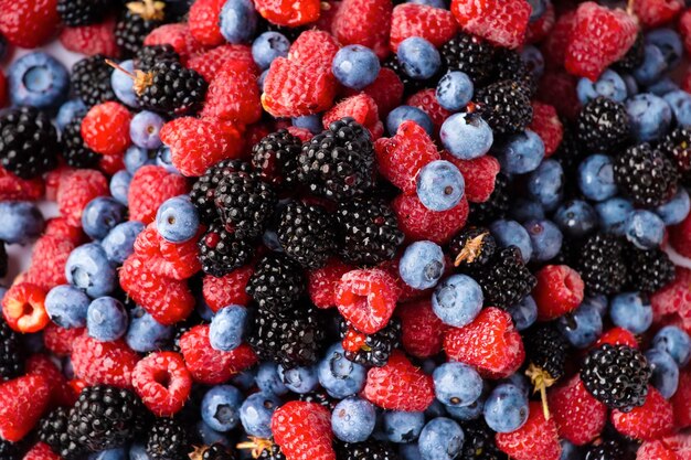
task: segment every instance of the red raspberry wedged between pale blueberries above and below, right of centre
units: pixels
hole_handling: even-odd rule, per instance
[[[464,197],[448,211],[429,211],[416,195],[398,195],[391,204],[398,218],[398,226],[412,242],[428,239],[445,244],[466,225],[468,201]]]

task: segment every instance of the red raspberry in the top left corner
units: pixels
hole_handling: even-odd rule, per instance
[[[57,32],[57,0],[0,0],[0,33],[15,46],[38,47]]]

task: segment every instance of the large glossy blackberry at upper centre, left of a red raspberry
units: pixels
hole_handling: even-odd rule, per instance
[[[297,179],[317,195],[346,200],[374,185],[374,165],[370,131],[347,117],[302,146]]]

